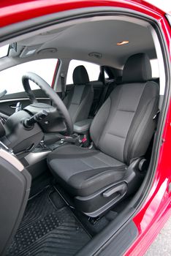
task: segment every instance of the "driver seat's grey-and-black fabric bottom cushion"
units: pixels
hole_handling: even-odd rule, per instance
[[[96,149],[64,145],[47,157],[58,183],[72,195],[88,196],[121,180],[126,165]]]

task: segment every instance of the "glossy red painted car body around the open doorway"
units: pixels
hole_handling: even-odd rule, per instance
[[[141,12],[154,18],[161,25],[167,42],[167,50],[171,59],[171,28],[165,13],[157,7],[141,0],[12,0],[0,2],[0,26],[8,26],[23,20],[37,18],[43,15],[73,10],[85,7],[123,7],[130,10]],[[143,255],[157,236],[161,227],[171,214],[171,164],[170,164],[170,145],[171,145],[171,103],[167,110],[167,118],[162,134],[162,143],[159,152],[159,160],[156,167],[156,174],[153,178],[151,189],[142,204],[140,210],[133,217],[133,221],[139,231],[134,244],[129,247],[125,255]]]

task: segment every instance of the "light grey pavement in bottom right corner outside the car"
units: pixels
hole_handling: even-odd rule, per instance
[[[153,241],[145,256],[171,256],[171,217]]]

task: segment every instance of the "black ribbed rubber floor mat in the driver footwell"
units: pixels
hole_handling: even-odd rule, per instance
[[[75,255],[90,239],[58,192],[47,187],[28,201],[7,256]]]

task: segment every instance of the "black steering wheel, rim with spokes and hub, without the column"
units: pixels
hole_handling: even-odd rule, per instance
[[[33,91],[31,91],[29,80],[36,83],[37,86],[39,86],[39,88],[45,92],[47,97],[49,97],[52,101],[53,106],[37,102],[37,99],[34,96]],[[56,92],[53,91],[53,89],[48,85],[48,83],[45,82],[45,80],[43,80],[42,78],[40,78],[39,75],[36,75],[33,72],[26,72],[26,74],[24,74],[22,77],[22,83],[28,98],[31,100],[31,105],[28,105],[25,108],[25,110],[28,110],[28,112],[32,114],[39,113],[39,111],[41,110],[47,111],[47,117],[43,119],[43,121],[39,121],[39,124],[42,127],[43,132],[60,131],[60,127],[58,127],[58,121],[62,119],[66,127],[64,128],[64,126],[61,126],[61,129],[65,129],[65,133],[67,135],[72,135],[72,118],[69,115],[69,112],[66,106],[64,105],[64,102],[61,100],[60,97],[58,97],[58,94],[56,94]],[[57,130],[56,127],[58,127]]]

